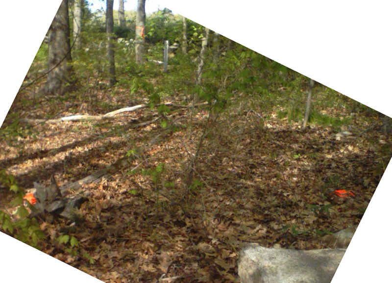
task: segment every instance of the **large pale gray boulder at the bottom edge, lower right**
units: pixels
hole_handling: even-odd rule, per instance
[[[330,283],[345,249],[296,251],[249,244],[240,253],[242,283]]]

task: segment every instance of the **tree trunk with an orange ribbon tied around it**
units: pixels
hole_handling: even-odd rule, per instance
[[[144,44],[145,44],[145,26],[146,26],[146,0],[138,0],[138,8],[136,12],[136,36],[135,36],[135,52],[136,63],[142,65],[144,63]]]

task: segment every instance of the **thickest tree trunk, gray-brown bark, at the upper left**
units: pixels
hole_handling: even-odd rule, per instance
[[[75,83],[73,71],[68,0],[63,0],[49,27],[48,79],[46,92],[49,95],[63,95]]]

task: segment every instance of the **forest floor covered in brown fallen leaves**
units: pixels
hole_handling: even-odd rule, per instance
[[[71,104],[41,97],[26,108],[31,98],[22,92],[6,123],[17,112],[43,119],[146,103],[130,103],[128,95],[126,89],[113,97],[97,90]],[[51,175],[60,186],[80,180],[137,153],[112,176],[82,186],[90,193],[79,210],[82,223],[40,222],[47,234],[42,251],[108,283],[229,283],[238,282],[237,260],[246,242],[333,248],[320,238],[360,222],[391,158],[391,137],[379,124],[371,127],[377,116],[326,109],[333,117],[353,117],[350,129],[340,129],[351,135],[337,137],[331,127],[301,131],[277,119],[276,110],[263,119],[239,101],[216,121],[202,107],[191,123],[190,109],[172,108],[166,119],[176,130],[163,129],[162,120],[133,128],[159,117],[142,108],[110,120],[38,124],[34,135],[0,141],[1,169],[25,189],[34,181],[48,185]],[[339,197],[338,189],[354,196]],[[0,207],[9,206],[13,195],[5,188],[0,194]],[[56,241],[63,234],[78,240],[78,255]]]

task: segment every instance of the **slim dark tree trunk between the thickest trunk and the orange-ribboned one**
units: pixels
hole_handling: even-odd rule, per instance
[[[106,51],[109,63],[109,86],[116,83],[116,68],[114,65],[114,46],[113,46],[113,1],[106,0]]]

